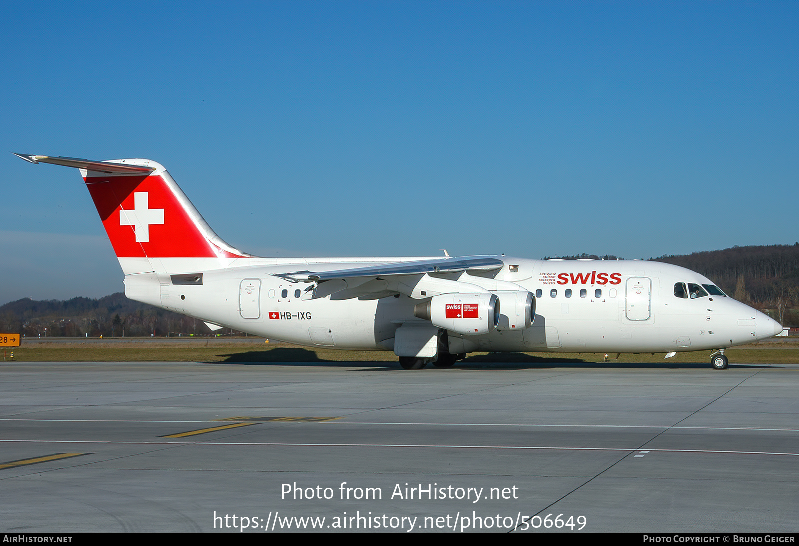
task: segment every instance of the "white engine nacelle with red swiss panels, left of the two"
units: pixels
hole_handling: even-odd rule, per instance
[[[442,294],[419,303],[413,314],[458,334],[488,334],[499,324],[499,298],[489,292]]]

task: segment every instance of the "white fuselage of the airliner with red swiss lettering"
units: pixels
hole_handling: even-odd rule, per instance
[[[497,258],[506,265],[490,277],[463,272],[448,279],[483,286],[489,291],[496,290],[497,281],[513,283],[534,294],[540,290],[535,322],[517,331],[495,330],[472,336],[450,334],[453,354],[475,350],[621,353],[712,350],[769,338],[781,330],[768,316],[730,298],[676,297],[675,283],[712,284],[684,267],[638,260]],[[336,300],[330,296],[303,299],[296,298],[295,293],[299,290],[304,294],[309,284],[291,283],[273,276],[311,264],[314,271],[332,271],[396,262],[396,258],[281,259],[280,263],[253,259],[260,264],[240,267],[232,264],[215,271],[204,271],[203,264],[194,260],[196,263],[189,267],[170,264],[169,271],[202,272],[202,285],[174,285],[167,274],[127,275],[125,294],[205,322],[304,346],[392,350],[394,332],[403,322],[426,322],[414,316],[414,307],[422,300],[408,295],[365,301]],[[567,290],[571,291],[570,297],[566,297]],[[582,290],[586,291],[585,297],[581,297]],[[598,290],[602,293],[597,296]],[[283,291],[286,297],[282,296]]]

